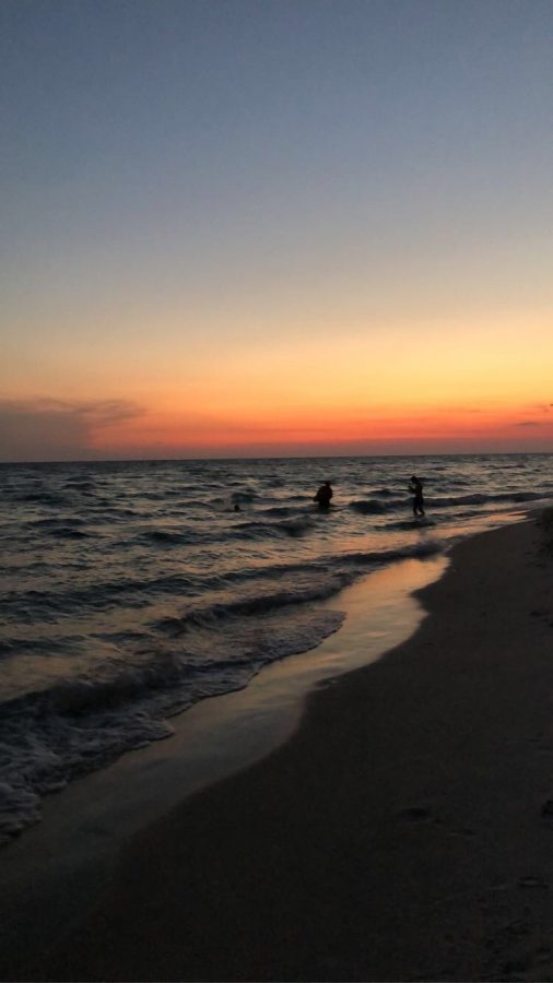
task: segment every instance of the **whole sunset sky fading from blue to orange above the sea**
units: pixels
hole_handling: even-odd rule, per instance
[[[0,461],[553,451],[552,0],[0,38]]]

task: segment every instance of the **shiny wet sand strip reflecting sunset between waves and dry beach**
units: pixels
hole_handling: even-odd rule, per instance
[[[0,979],[17,978],[30,954],[61,936],[75,914],[84,917],[84,904],[94,908],[132,836],[264,759],[294,733],[311,690],[409,638],[424,616],[413,592],[447,562],[444,555],[400,560],[362,578],[321,603],[346,617],[316,649],[263,666],[243,689],[173,718],[168,739],[46,796],[42,820],[0,851]]]

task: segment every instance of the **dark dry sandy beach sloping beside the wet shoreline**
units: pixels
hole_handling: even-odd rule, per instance
[[[319,686],[276,750],[64,884],[64,932],[40,938],[27,891],[1,979],[551,980],[543,529],[462,542],[420,601],[416,632]]]

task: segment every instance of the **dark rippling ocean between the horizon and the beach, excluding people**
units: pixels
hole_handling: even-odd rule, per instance
[[[339,631],[356,578],[552,497],[552,454],[0,465],[0,842],[45,794]]]

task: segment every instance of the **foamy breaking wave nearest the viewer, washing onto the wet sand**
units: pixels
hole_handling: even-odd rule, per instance
[[[0,842],[40,818],[40,797],[127,750],[170,736],[167,718],[243,688],[268,662],[305,652],[337,631],[343,613],[306,611],[256,621],[226,639],[227,658],[158,650],[134,664],[52,683],[4,704],[0,723]],[[233,642],[236,642],[233,651]]]

